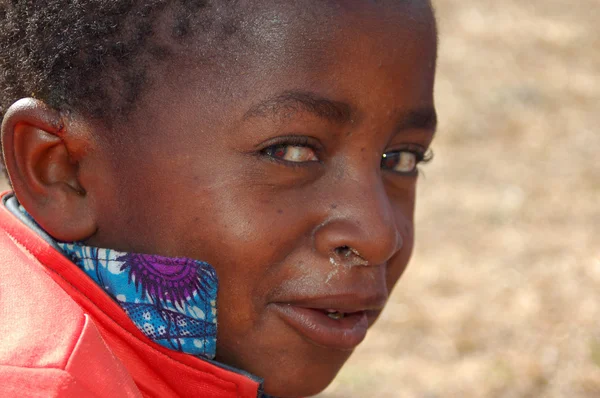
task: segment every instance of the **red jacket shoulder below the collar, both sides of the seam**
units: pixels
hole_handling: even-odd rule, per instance
[[[21,241],[0,229],[0,395],[139,396],[92,319]]]

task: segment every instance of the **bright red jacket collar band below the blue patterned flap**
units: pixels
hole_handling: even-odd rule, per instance
[[[127,358],[142,360],[145,356],[149,356],[149,361],[161,361],[159,368],[152,368],[155,372],[162,373],[168,368],[180,369],[179,372],[183,378],[181,380],[207,374],[215,380],[220,380],[219,385],[235,385],[235,389],[238,391],[236,396],[267,397],[262,392],[262,379],[259,377],[208,358],[200,359],[197,356],[187,355],[178,350],[168,349],[164,345],[156,344],[149,339],[135,325],[123,307],[118,304],[118,300],[106,300],[107,291],[100,288],[92,278],[85,277],[83,275],[85,271],[74,266],[73,262],[66,256],[65,251],[59,246],[60,243],[49,237],[39,225],[18,209],[19,204],[14,194],[4,193],[1,195],[1,199],[3,206],[0,206],[0,228],[5,230],[18,244],[46,267],[52,279],[84,311],[89,313],[93,319],[101,320],[102,325],[104,325],[101,330],[106,330],[105,333],[109,333],[103,334],[109,346],[113,336],[121,336],[119,337],[121,340],[131,339],[130,344],[121,347],[121,350],[125,349],[124,347],[128,347],[127,350],[133,350],[127,357],[121,357],[125,363]],[[124,272],[127,271],[124,270]],[[85,275],[88,274],[85,273]],[[136,379],[136,376],[133,376]],[[161,379],[163,378],[164,376],[161,377]],[[201,377],[201,379],[204,378],[206,377]],[[191,380],[190,382],[197,385],[197,382]],[[179,388],[185,389],[187,387],[182,385]]]

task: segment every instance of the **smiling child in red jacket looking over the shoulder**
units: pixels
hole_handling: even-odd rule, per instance
[[[412,250],[429,2],[0,4],[0,395],[323,390]]]

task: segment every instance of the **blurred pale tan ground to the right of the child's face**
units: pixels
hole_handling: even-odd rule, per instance
[[[600,0],[433,1],[415,255],[320,397],[600,397]]]

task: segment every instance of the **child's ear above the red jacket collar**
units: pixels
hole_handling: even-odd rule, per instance
[[[67,242],[96,231],[90,198],[78,179],[75,152],[82,137],[75,133],[60,112],[32,98],[15,102],[2,123],[2,151],[17,199],[46,232]]]

